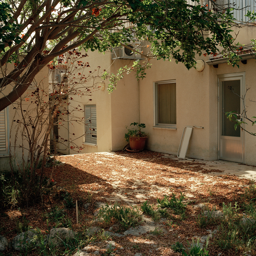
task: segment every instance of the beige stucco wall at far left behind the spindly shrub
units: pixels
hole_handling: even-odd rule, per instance
[[[8,70],[12,70],[13,69],[13,65],[12,64],[8,64],[8,69],[7,69],[7,74],[10,72]],[[26,97],[26,98],[30,98],[31,99],[31,92],[35,91],[36,89],[36,84],[39,84],[42,86],[42,88],[44,88],[45,90],[45,93],[48,92],[48,68],[45,67],[43,68],[35,77],[32,85],[29,87],[29,89],[22,95],[22,98],[23,97]],[[5,88],[2,92],[4,94],[7,94],[9,91],[11,91],[11,88],[10,87],[7,87]],[[2,95],[0,95],[0,97],[2,97]],[[47,98],[47,97],[46,97]],[[30,104],[30,101],[28,102],[23,102],[22,103],[23,105],[23,109],[24,110],[31,110],[33,108],[35,108],[34,104]],[[11,145],[11,156],[13,157],[13,151],[14,151],[14,140],[15,140],[15,134],[16,134],[16,123],[13,124],[12,126],[12,123],[13,123],[13,119],[14,119],[14,115],[15,115],[15,107],[16,107],[16,103],[14,102],[12,105],[10,105],[8,107],[8,135],[10,135],[10,138],[11,138],[11,141],[10,141],[10,145]],[[32,113],[33,115],[33,113]],[[15,119],[21,119],[21,115],[20,115],[20,112],[18,112],[15,116]],[[11,126],[12,126],[12,130],[11,130]],[[11,132],[10,132],[11,130]],[[42,134],[43,136],[43,134]],[[38,140],[38,144],[40,144],[40,138]],[[15,160],[12,158],[12,165],[14,168],[17,167],[17,164],[21,163],[22,162],[22,154],[24,156],[24,159],[25,161],[27,160],[27,156],[28,156],[28,151],[26,150],[27,148],[27,143],[26,141],[23,141],[23,145],[24,145],[24,148],[23,148],[23,152],[22,152],[22,148],[19,148],[19,145],[22,145],[22,140],[21,140],[21,135],[20,135],[20,132],[17,134],[17,137],[16,137],[16,149],[15,149],[15,155],[16,155],[16,158]],[[0,156],[0,169],[1,170],[9,170],[10,169],[10,164],[9,164],[9,155],[7,156]]]

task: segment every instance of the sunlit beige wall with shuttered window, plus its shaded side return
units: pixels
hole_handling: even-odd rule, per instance
[[[132,65],[133,60],[111,60],[111,54],[108,52],[103,55],[99,52],[88,52],[88,57],[84,60],[89,62],[90,70],[106,69],[108,73],[116,73],[117,69],[124,65]],[[89,69],[88,69],[89,71]],[[90,83],[89,83],[90,84]],[[122,149],[127,143],[124,140],[126,126],[133,122],[139,122],[139,95],[138,81],[134,74],[124,76],[112,93],[107,91],[108,80],[105,81],[105,89],[92,92],[92,96],[72,96],[74,100],[69,100],[70,108],[75,106],[76,102],[96,105],[97,116],[97,145],[84,143],[85,126],[76,122],[69,123],[70,138],[76,139],[78,146],[84,147],[80,153],[113,151]],[[89,101],[89,99],[92,99]],[[80,104],[80,105],[81,105]],[[81,106],[82,106],[81,105]],[[80,113],[84,115],[84,113]],[[60,131],[59,131],[60,132]],[[72,134],[75,133],[75,136]],[[80,138],[79,138],[80,137]],[[77,154],[77,150],[69,150],[63,153]]]

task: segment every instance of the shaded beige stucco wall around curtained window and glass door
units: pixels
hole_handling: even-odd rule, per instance
[[[250,38],[254,36],[254,27],[244,26],[242,29],[234,28],[238,33],[237,41],[241,44],[250,42]],[[208,56],[197,57],[197,59],[208,60]],[[125,60],[121,60],[119,65],[113,65],[112,69],[115,72]],[[129,62],[129,60],[126,60]],[[187,70],[183,64],[176,64],[175,61],[151,61],[152,66],[147,71],[147,76],[139,82],[139,101],[135,102],[136,94],[132,97],[134,105],[127,108],[125,115],[127,120],[129,118],[139,118],[140,123],[146,124],[146,132],[148,132],[148,143],[147,148],[154,151],[166,152],[171,154],[177,154],[183,129],[186,125],[191,126],[202,126],[204,129],[194,128],[190,143],[188,146],[188,157],[195,157],[205,160],[215,160],[218,158],[218,87],[217,87],[217,75],[224,73],[243,72],[251,73],[250,68],[242,67],[244,64],[240,63],[240,69],[237,67],[233,68],[228,64],[221,64],[219,68],[205,65],[203,72],[198,72],[194,68]],[[248,61],[249,65],[252,65],[253,60]],[[241,66],[242,65],[242,66]],[[248,66],[249,66],[248,65]],[[227,66],[228,69],[223,67]],[[248,67],[247,66],[247,67]],[[238,71],[237,71],[238,70]],[[249,74],[247,74],[248,76]],[[177,97],[177,130],[172,129],[161,129],[154,128],[154,89],[153,83],[165,80],[176,80],[176,97]],[[112,106],[112,124],[115,122],[113,127],[119,125],[119,136],[122,134],[123,121],[123,108],[122,106],[117,108],[120,102],[120,98],[130,101],[127,97],[130,97],[130,88],[127,88],[127,82],[134,84],[130,75],[126,75],[123,81],[117,86],[118,97],[114,100],[114,93],[111,95],[111,106]],[[128,90],[127,90],[128,89]],[[127,93],[129,92],[129,94]],[[135,90],[133,90],[135,92]],[[139,113],[136,115],[136,105],[138,106]],[[132,105],[132,104],[130,104]],[[129,123],[129,122],[127,122]],[[118,132],[114,131],[116,134]],[[247,140],[246,140],[247,141]],[[112,146],[114,150],[120,149],[118,145],[121,144],[121,140],[116,138],[114,142],[112,140]],[[247,146],[248,145],[248,146]],[[248,142],[246,147],[249,147]],[[252,147],[252,146],[250,146]],[[247,149],[248,151],[248,149]],[[253,155],[253,153],[252,153]],[[252,158],[252,156],[250,156]],[[246,163],[249,163],[249,155],[246,154]],[[252,162],[250,162],[252,163]]]

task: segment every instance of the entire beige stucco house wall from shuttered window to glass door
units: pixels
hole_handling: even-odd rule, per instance
[[[254,38],[255,27],[244,26],[234,28],[241,44],[250,43]],[[94,58],[94,56],[96,58]],[[92,60],[90,60],[90,58]],[[208,56],[197,56],[197,60],[208,60]],[[133,60],[111,60],[111,56],[97,52],[89,52],[90,65],[100,66],[108,72],[116,73],[124,65],[132,65]],[[217,76],[236,72],[245,72],[246,85],[252,87],[247,93],[250,100],[256,100],[256,91],[253,89],[255,75],[255,60],[248,60],[240,68],[231,65],[219,64],[218,68],[205,64],[202,72],[192,68],[187,70],[181,63],[175,61],[152,60],[146,78],[138,82],[133,73],[126,75],[117,83],[116,90],[108,94],[104,91],[94,92],[89,104],[97,106],[97,147],[84,145],[83,152],[100,152],[120,150],[126,144],[124,140],[125,126],[140,122],[146,124],[148,133],[147,148],[150,150],[177,154],[182,132],[185,126],[202,126],[204,129],[194,128],[188,146],[187,157],[205,160],[218,159],[218,86]],[[154,127],[154,82],[176,80],[177,101],[177,129],[162,129]],[[106,82],[107,87],[108,82]],[[82,99],[86,102],[86,99]],[[85,103],[84,103],[85,104]],[[254,102],[249,102],[248,116],[253,113]],[[249,127],[249,126],[248,126]],[[83,131],[82,126],[75,125],[75,131]],[[253,131],[254,127],[248,128]],[[72,130],[70,129],[70,133]],[[245,163],[256,164],[255,139],[245,135]],[[81,140],[81,143],[83,141]],[[82,153],[83,153],[82,152]],[[76,152],[70,152],[76,153]]]

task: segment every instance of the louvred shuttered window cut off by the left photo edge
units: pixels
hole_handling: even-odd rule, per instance
[[[7,123],[8,123],[8,110],[5,108],[4,110],[0,111],[0,155],[7,155],[8,152],[8,130],[7,130]]]

